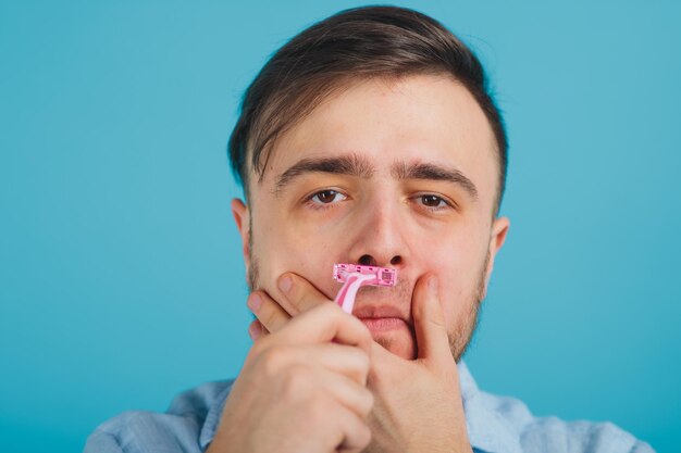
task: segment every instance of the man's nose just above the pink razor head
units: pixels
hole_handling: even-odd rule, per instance
[[[404,240],[405,222],[400,222],[398,206],[368,206],[361,213],[352,243],[350,260],[367,266],[401,268],[409,252]]]

